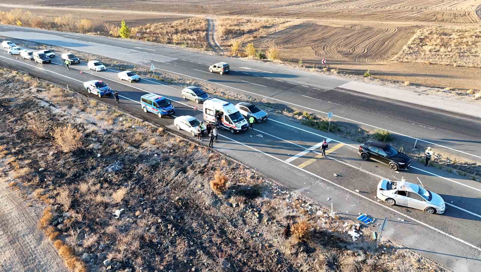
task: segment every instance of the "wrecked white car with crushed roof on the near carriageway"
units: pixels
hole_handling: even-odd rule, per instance
[[[440,195],[424,189],[422,184],[409,183],[405,179],[401,181],[382,179],[378,184],[377,197],[391,206],[406,206],[424,210],[428,214],[441,214],[446,209]]]

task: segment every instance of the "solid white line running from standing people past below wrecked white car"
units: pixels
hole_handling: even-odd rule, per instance
[[[405,218],[408,218],[409,220],[412,220],[413,222],[416,222],[416,223],[418,223],[418,224],[421,224],[421,225],[423,225],[423,226],[425,226],[425,227],[428,227],[428,228],[430,228],[430,229],[432,229],[432,230],[434,230],[434,231],[436,231],[436,232],[439,232],[439,233],[441,233],[441,234],[443,234],[443,235],[446,235],[446,236],[448,236],[448,237],[450,237],[450,238],[452,238],[452,239],[455,239],[455,240],[458,241],[458,242],[461,242],[461,243],[463,243],[463,244],[465,244],[465,245],[468,245],[469,247],[473,247],[473,248],[481,251],[481,248],[480,248],[480,247],[476,247],[475,245],[472,245],[472,244],[470,244],[470,243],[468,243],[468,242],[466,242],[466,241],[464,241],[464,240],[462,240],[462,239],[460,239],[460,238],[457,238],[456,236],[453,236],[453,235],[447,234],[447,233],[445,233],[445,232],[443,232],[443,231],[441,231],[441,230],[438,230],[437,228],[435,228],[435,227],[433,227],[433,226],[430,226],[430,225],[428,225],[428,224],[426,224],[426,223],[423,223],[423,222],[421,222],[421,221],[419,221],[419,220],[417,220],[417,219],[414,219],[414,218],[412,218],[412,217],[410,217],[410,216],[408,216],[408,215],[405,215],[404,213],[402,213],[402,212],[400,212],[400,211],[397,211],[397,210],[394,210],[394,209],[392,209],[391,207],[384,206],[384,205],[382,205],[381,203],[379,203],[378,201],[374,201],[374,200],[372,200],[372,199],[370,199],[370,198],[367,198],[367,197],[365,197],[365,196],[363,196],[363,195],[361,195],[361,194],[359,194],[359,193],[357,193],[357,192],[354,192],[354,191],[352,191],[352,190],[350,190],[350,189],[348,189],[348,188],[346,188],[346,187],[343,187],[343,186],[341,186],[341,185],[338,185],[338,184],[336,184],[336,183],[334,183],[334,182],[332,182],[332,181],[330,181],[330,180],[328,180],[328,179],[326,179],[326,178],[323,178],[323,177],[321,177],[321,176],[318,176],[318,175],[316,175],[315,173],[311,173],[311,172],[309,172],[309,171],[307,171],[307,170],[305,170],[305,169],[303,169],[303,168],[300,168],[300,167],[298,167],[298,166],[296,166],[296,165],[293,165],[293,164],[291,164],[291,163],[289,163],[289,162],[283,161],[283,160],[281,160],[281,159],[279,159],[279,158],[277,158],[277,157],[274,157],[274,156],[272,156],[272,155],[270,155],[270,154],[267,154],[266,152],[261,151],[261,150],[259,150],[259,149],[257,149],[257,148],[253,148],[253,147],[250,147],[250,146],[248,146],[248,145],[246,145],[246,144],[244,144],[244,143],[238,142],[238,141],[236,141],[236,140],[234,140],[234,139],[232,139],[232,138],[229,138],[228,136],[224,136],[224,135],[220,135],[220,136],[225,137],[225,138],[227,138],[227,139],[229,139],[229,140],[231,140],[231,141],[233,141],[233,142],[235,142],[235,143],[237,143],[237,144],[240,144],[240,145],[242,145],[242,146],[245,146],[246,148],[251,148],[251,149],[253,149],[253,150],[255,150],[255,151],[257,151],[257,152],[259,152],[259,153],[261,153],[261,154],[264,154],[264,155],[266,155],[266,156],[268,156],[268,157],[270,157],[270,158],[272,158],[272,159],[274,159],[274,160],[281,161],[281,162],[283,162],[283,163],[285,163],[285,164],[291,165],[292,167],[296,168],[297,170],[300,170],[300,171],[302,171],[302,172],[304,172],[304,173],[310,174],[310,175],[312,175],[312,176],[314,176],[314,177],[316,177],[316,178],[318,178],[318,179],[321,179],[321,180],[323,180],[323,181],[325,181],[325,182],[328,182],[328,183],[330,183],[330,184],[332,184],[332,185],[334,185],[334,186],[336,186],[336,187],[339,187],[339,188],[341,188],[341,189],[343,189],[343,190],[345,190],[345,191],[348,191],[348,192],[350,192],[350,193],[352,193],[352,194],[354,194],[354,195],[356,195],[356,196],[358,196],[358,197],[360,197],[360,198],[364,198],[364,199],[366,199],[366,200],[369,201],[369,202],[372,202],[372,203],[377,204],[377,205],[379,205],[379,206],[381,206],[381,207],[383,207],[383,208],[385,208],[385,209],[388,209],[388,210],[391,210],[392,212],[395,212],[395,213],[397,213],[397,214],[400,214],[400,215],[404,216]]]

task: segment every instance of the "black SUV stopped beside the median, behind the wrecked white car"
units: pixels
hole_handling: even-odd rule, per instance
[[[392,170],[407,169],[411,166],[411,159],[403,153],[399,153],[392,146],[374,141],[366,141],[359,146],[359,154],[365,161],[371,159],[385,163]]]

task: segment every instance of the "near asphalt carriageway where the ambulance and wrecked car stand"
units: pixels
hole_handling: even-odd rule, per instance
[[[56,52],[59,54],[59,52]],[[17,60],[15,56],[0,51],[0,64],[37,76],[87,94],[83,82],[98,79],[109,84],[121,95],[121,103],[113,97],[102,97],[104,103],[121,107],[142,119],[161,124],[172,130],[174,117],[158,118],[144,113],[139,105],[140,96],[156,93],[171,99],[176,116],[192,115],[202,120],[202,104],[184,100],[181,89],[152,78],[142,78],[139,83],[119,81],[117,70],[102,72],[88,70],[85,63],[71,65],[70,70],[54,58],[51,64]],[[80,74],[79,70],[84,73]],[[234,101],[231,101],[234,102]],[[199,110],[194,110],[197,106]],[[181,131],[181,133],[184,133]],[[185,137],[195,140],[189,134]],[[316,146],[329,139],[327,158],[319,158]],[[388,217],[385,234],[438,260],[455,271],[479,271],[481,267],[481,184],[460,178],[452,173],[425,168],[414,162],[408,171],[391,171],[388,166],[375,161],[362,161],[357,154],[359,143],[305,127],[283,116],[271,115],[264,124],[254,124],[253,130],[232,135],[220,131],[220,142],[215,149],[265,173],[283,185],[299,190],[307,196],[330,206],[333,204],[342,216],[354,218],[359,213],[382,220]],[[207,141],[203,141],[207,145]],[[334,173],[337,175],[335,176]],[[446,202],[442,215],[427,215],[421,210],[393,206],[375,198],[376,185],[381,178],[399,180],[405,177],[438,194]],[[286,195],[286,199],[289,195]],[[329,200],[327,200],[329,198]],[[372,225],[377,230],[377,225]]]

